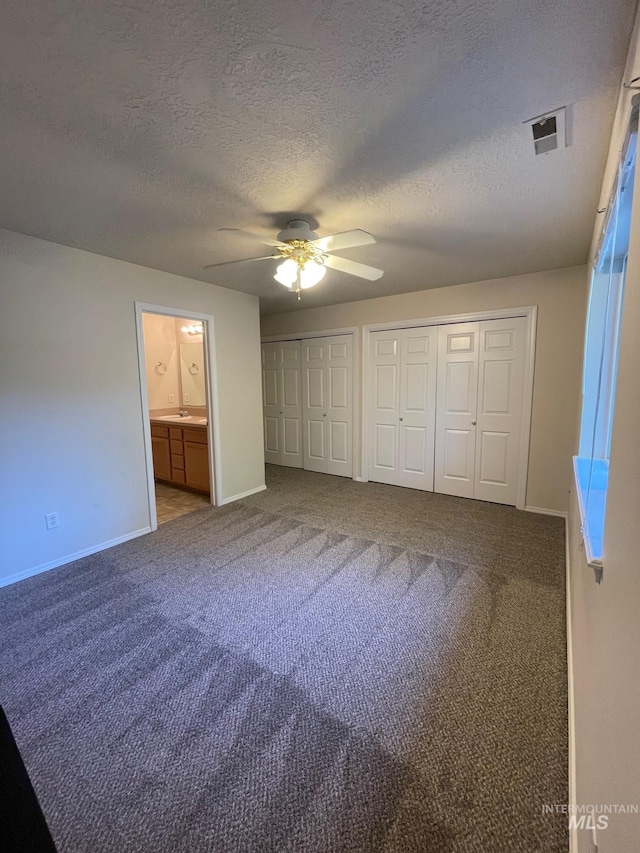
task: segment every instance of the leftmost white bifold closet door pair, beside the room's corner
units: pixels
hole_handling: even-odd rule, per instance
[[[302,468],[300,341],[262,344],[264,458]]]

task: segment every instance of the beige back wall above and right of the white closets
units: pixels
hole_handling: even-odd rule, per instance
[[[348,287],[346,278],[345,287]],[[528,506],[565,512],[578,417],[586,292],[586,268],[570,267],[274,314],[262,318],[262,334],[360,327],[369,323],[537,305],[526,502]]]

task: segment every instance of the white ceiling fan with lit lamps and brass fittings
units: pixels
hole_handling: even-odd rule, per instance
[[[228,261],[222,264],[209,264],[205,269],[227,267],[232,264],[248,264],[253,261],[281,261],[278,264],[274,278],[300,299],[300,292],[318,284],[324,278],[327,267],[348,275],[356,275],[369,281],[376,281],[383,275],[383,270],[350,261],[334,254],[340,249],[350,249],[353,246],[366,246],[375,243],[375,237],[366,231],[356,228],[353,231],[343,231],[328,237],[318,237],[306,219],[290,219],[287,227],[280,231],[275,239],[243,231],[240,228],[221,228],[220,231],[232,231],[243,237],[260,240],[271,246],[275,252],[260,258],[246,258],[240,261]]]

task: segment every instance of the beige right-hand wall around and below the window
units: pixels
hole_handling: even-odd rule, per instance
[[[640,75],[638,27],[624,80]],[[621,89],[600,207],[609,199],[633,91]],[[594,233],[595,247],[602,217]],[[604,537],[597,584],[571,495],[569,554],[574,662],[577,803],[640,805],[640,169],[623,305],[618,384]],[[577,446],[577,437],[576,437]],[[589,833],[578,835],[590,853]],[[600,853],[640,850],[640,815],[612,815],[598,832]]]

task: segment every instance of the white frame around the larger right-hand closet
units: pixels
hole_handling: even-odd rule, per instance
[[[527,481],[529,477],[529,443],[531,438],[531,414],[533,411],[533,374],[536,355],[536,330],[538,306],[526,305],[521,308],[500,308],[490,311],[473,311],[466,314],[446,314],[441,317],[422,317],[412,320],[389,320],[385,323],[369,323],[362,326],[362,365],[360,410],[360,482],[368,481],[369,448],[367,446],[367,393],[369,354],[371,351],[371,332],[386,332],[394,329],[412,329],[420,326],[446,326],[452,323],[476,323],[482,320],[508,320],[512,317],[524,317],[526,320],[524,343],[524,385],[522,394],[522,429],[518,448],[518,471],[516,487],[516,508],[525,509]]]

